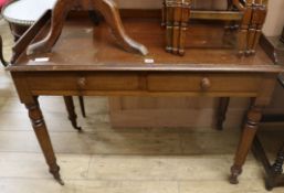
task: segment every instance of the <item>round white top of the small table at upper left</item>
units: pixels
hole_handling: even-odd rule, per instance
[[[20,0],[9,3],[2,10],[8,22],[31,25],[46,10],[52,9],[56,0]]]

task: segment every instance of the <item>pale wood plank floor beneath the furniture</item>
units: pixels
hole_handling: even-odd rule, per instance
[[[0,33],[8,58],[12,39],[3,21]],[[107,99],[92,97],[86,98],[86,119],[77,108],[84,129],[77,133],[67,120],[61,97],[41,97],[40,103],[65,185],[59,185],[49,174],[27,111],[9,73],[0,67],[1,193],[266,192],[263,169],[251,154],[241,183],[228,183],[239,128],[222,132],[212,128],[113,129]],[[283,131],[270,128],[274,127],[266,126],[263,136],[274,156]],[[274,192],[281,193],[283,187]]]

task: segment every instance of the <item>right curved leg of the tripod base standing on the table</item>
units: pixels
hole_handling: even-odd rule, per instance
[[[93,8],[98,10],[99,13],[105,18],[107,24],[111,26],[116,40],[127,51],[135,51],[143,55],[148,54],[148,50],[134,40],[132,40],[125,32],[123,22],[119,15],[116,3],[112,0],[91,0]]]

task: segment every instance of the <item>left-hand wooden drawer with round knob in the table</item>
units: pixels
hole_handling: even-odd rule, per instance
[[[29,76],[33,90],[135,90],[139,77],[124,73],[52,73]]]

